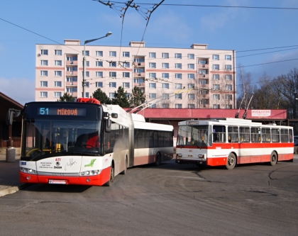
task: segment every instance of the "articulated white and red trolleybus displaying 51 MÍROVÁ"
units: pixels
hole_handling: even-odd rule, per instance
[[[172,125],[146,123],[118,105],[31,102],[22,113],[21,183],[109,186],[128,167],[172,159]]]

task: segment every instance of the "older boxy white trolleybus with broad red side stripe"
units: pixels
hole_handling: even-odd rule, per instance
[[[176,162],[226,166],[293,160],[293,128],[251,120],[188,120],[178,124]]]

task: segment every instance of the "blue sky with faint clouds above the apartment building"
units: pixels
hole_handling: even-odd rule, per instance
[[[148,4],[140,5],[146,11],[145,8],[152,9],[153,5],[149,4],[160,1],[133,2]],[[114,9],[98,1],[1,0],[0,91],[21,104],[34,101],[36,43],[53,44],[54,40],[64,44],[64,39],[84,41],[99,38],[109,31],[113,34],[108,38],[90,45],[128,46],[131,40],[141,40],[145,31],[146,47],[189,48],[192,43],[206,43],[209,49],[236,50],[237,66],[243,65],[245,72],[252,74],[254,82],[264,73],[277,77],[298,67],[298,60],[293,60],[298,59],[298,10],[170,4],[298,9],[297,0],[165,0],[153,11],[146,29],[145,18],[129,8],[124,18],[121,43],[122,18]],[[293,45],[297,46],[286,47]],[[258,50],[270,47],[282,48]],[[243,50],[256,51],[240,52]],[[260,54],[263,52],[270,53]],[[278,62],[283,60],[288,61]],[[269,62],[277,63],[264,64]],[[250,66],[253,64],[261,65]]]

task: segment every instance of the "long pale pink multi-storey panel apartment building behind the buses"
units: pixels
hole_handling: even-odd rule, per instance
[[[36,45],[35,101],[82,97],[84,45]],[[85,97],[96,89],[113,98],[119,86],[140,88],[153,108],[236,108],[236,52],[190,48],[85,45]]]

